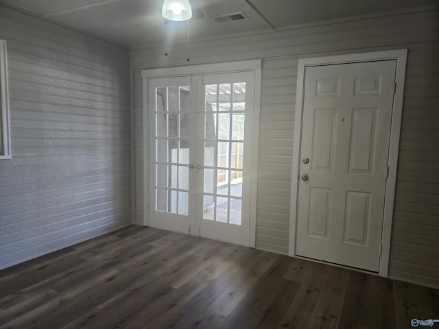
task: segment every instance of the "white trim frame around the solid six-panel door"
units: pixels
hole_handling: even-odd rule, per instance
[[[296,92],[296,119],[294,123],[294,149],[291,188],[291,208],[289,213],[289,249],[288,256],[296,256],[296,225],[297,225],[297,198],[300,162],[300,143],[302,136],[302,111],[304,100],[305,70],[309,66],[348,64],[357,62],[375,62],[377,60],[396,60],[396,89],[392,109],[392,125],[390,127],[389,144],[389,174],[385,185],[385,204],[383,217],[383,232],[381,237],[381,257],[379,260],[379,276],[388,276],[390,237],[392,234],[392,217],[394,206],[394,192],[396,186],[396,165],[398,162],[399,135],[401,132],[401,117],[403,110],[403,92],[405,82],[405,64],[407,49],[376,51],[372,53],[355,53],[351,55],[327,56],[320,58],[304,58],[298,61],[297,92]]]

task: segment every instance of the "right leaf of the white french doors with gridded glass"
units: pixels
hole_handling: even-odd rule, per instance
[[[200,89],[196,227],[201,236],[248,245],[254,73],[204,75]]]

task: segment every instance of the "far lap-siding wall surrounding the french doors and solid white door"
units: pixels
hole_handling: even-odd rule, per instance
[[[299,58],[409,49],[394,204],[391,278],[439,287],[439,10],[236,36],[190,46],[191,64],[263,59],[257,247],[287,254]],[[140,69],[185,65],[185,45],[134,49],[136,192],[142,193]],[[142,195],[136,197],[143,220]]]

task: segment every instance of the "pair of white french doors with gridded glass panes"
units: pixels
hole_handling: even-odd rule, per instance
[[[149,225],[249,244],[254,72],[148,80]]]

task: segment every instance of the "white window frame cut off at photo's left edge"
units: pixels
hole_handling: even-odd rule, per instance
[[[0,159],[11,158],[6,41],[0,40]]]

